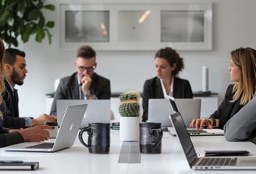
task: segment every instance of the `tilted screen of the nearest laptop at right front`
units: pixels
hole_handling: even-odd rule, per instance
[[[180,112],[172,114],[170,118],[172,121],[172,126],[176,130],[176,135],[180,140],[180,144],[191,167],[194,160],[197,158],[197,153],[194,150],[194,145],[192,144],[190,136],[187,133],[187,128],[184,124],[183,118],[181,117]]]

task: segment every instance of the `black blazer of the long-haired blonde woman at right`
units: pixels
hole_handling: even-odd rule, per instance
[[[222,100],[222,103],[218,109],[212,113],[210,118],[219,119],[219,128],[223,129],[226,122],[233,117],[244,105],[240,105],[240,99],[237,99],[235,102],[230,102],[233,99],[233,86],[229,85],[226,89],[225,97]]]

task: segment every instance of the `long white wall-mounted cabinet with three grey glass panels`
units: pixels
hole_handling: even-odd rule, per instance
[[[60,4],[60,47],[212,50],[212,4]]]

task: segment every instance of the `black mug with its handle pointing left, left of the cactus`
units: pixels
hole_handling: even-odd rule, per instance
[[[83,134],[87,132],[87,143],[84,142]],[[89,149],[90,153],[106,154],[110,146],[110,124],[91,123],[78,134],[80,142]]]

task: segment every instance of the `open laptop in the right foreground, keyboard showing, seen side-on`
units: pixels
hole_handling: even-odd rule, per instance
[[[191,169],[195,170],[255,170],[255,157],[197,157],[194,145],[187,134],[180,112],[169,116]]]

